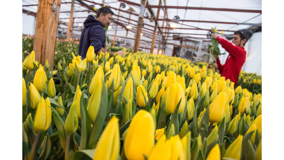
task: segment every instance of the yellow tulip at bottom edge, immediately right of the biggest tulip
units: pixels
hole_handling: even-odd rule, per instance
[[[166,135],[162,134],[161,138],[156,143],[155,148],[148,157],[148,160],[157,160],[157,159],[170,160],[170,154],[171,154],[170,141],[166,141]]]

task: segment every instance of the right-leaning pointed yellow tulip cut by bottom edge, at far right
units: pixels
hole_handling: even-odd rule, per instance
[[[242,140],[243,136],[239,134],[239,136],[230,144],[230,146],[225,151],[224,157],[241,159]]]

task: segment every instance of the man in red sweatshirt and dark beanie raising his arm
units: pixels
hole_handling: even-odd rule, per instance
[[[244,45],[251,38],[253,32],[247,29],[241,29],[234,32],[232,42],[229,42],[223,36],[219,36],[218,33],[213,34],[213,38],[216,39],[222,47],[229,52],[229,56],[226,59],[224,65],[220,64],[219,57],[216,57],[218,69],[221,76],[226,79],[230,79],[235,83],[238,83],[239,74],[241,72],[241,67],[246,61],[246,51]]]

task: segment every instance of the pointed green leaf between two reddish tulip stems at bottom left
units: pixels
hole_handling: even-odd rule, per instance
[[[48,134],[46,134],[45,138],[43,139],[43,142],[40,145],[40,148],[38,150],[38,153],[39,153],[38,160],[47,159],[50,151],[51,151],[51,142],[50,142]]]

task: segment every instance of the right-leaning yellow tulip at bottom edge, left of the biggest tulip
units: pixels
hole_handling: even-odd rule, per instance
[[[94,151],[94,160],[109,159],[116,160],[119,157],[120,151],[120,136],[119,136],[119,119],[113,116],[107,126],[104,128],[102,135],[96,145]]]

